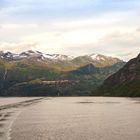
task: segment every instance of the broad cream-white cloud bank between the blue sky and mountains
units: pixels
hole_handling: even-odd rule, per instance
[[[1,50],[33,49],[74,55],[96,52],[125,60],[140,51],[139,28],[135,30],[140,19],[132,11],[105,12],[77,19],[43,19],[35,23],[10,20],[0,24],[0,41],[17,43],[0,43]]]

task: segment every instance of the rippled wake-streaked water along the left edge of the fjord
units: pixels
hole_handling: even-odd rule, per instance
[[[9,140],[11,126],[26,107],[38,103],[39,97],[0,98],[0,140]]]

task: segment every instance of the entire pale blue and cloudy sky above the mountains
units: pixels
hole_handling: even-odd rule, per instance
[[[140,0],[0,0],[0,50],[140,53]]]

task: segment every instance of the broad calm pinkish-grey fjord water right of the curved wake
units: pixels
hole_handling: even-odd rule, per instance
[[[140,99],[45,98],[24,108],[11,140],[139,140]]]

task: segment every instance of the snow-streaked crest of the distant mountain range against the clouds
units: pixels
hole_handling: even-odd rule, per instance
[[[62,55],[62,54],[46,54],[40,51],[28,50],[21,53],[12,53],[12,52],[4,52],[0,51],[0,58],[7,60],[20,60],[25,58],[40,58],[40,59],[49,59],[49,60],[60,60],[60,61],[74,61],[75,59],[89,59],[90,61],[105,61],[114,60],[114,61],[123,61],[116,57],[105,56],[102,54],[89,54],[89,55],[81,55],[81,56],[71,56],[71,55]]]

